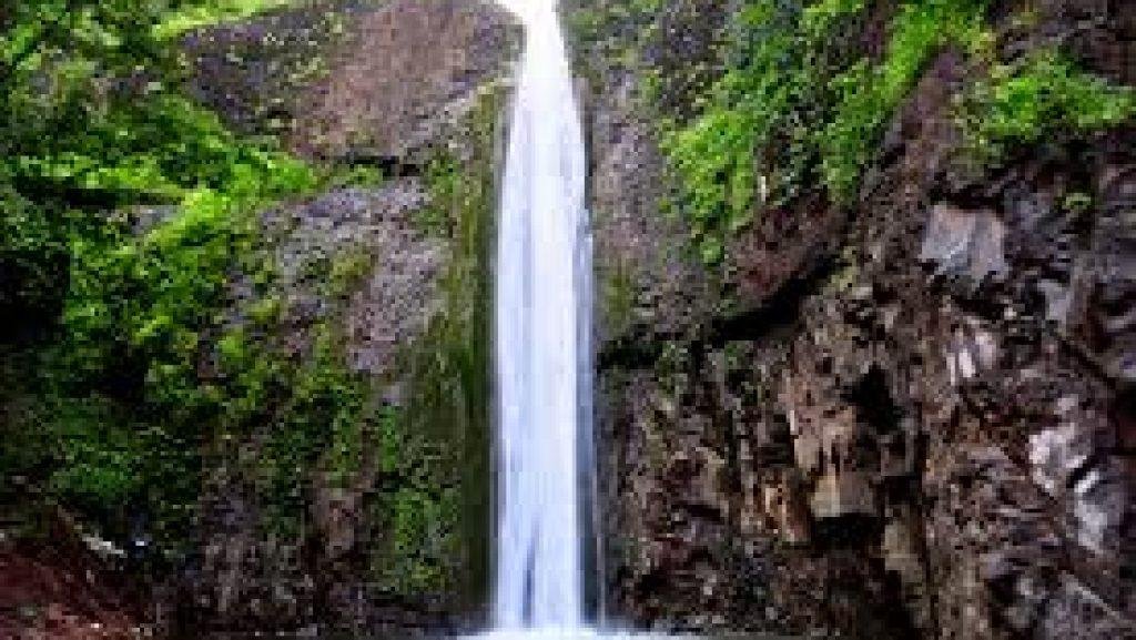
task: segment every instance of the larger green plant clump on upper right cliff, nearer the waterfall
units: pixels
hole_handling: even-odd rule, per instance
[[[729,234],[818,183],[832,200],[851,200],[884,125],[932,56],[947,44],[983,49],[984,6],[902,5],[872,61],[835,44],[851,40],[862,0],[746,2],[732,17],[726,70],[696,99],[693,119],[663,132],[702,258],[718,261]]]

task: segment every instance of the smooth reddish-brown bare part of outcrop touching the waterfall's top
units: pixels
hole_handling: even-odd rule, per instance
[[[352,19],[349,55],[307,97],[296,144],[323,156],[424,160],[478,89],[502,75],[518,33],[487,1],[393,0]]]

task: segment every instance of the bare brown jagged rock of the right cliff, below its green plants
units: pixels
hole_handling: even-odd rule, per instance
[[[687,5],[666,3],[663,41],[696,58]],[[1134,20],[1127,5],[1045,2],[1022,38],[1067,38],[1130,83]],[[578,43],[582,59],[602,45]],[[1136,132],[964,177],[950,97],[967,69],[944,51],[853,209],[762,221],[724,277],[684,259],[660,214],[628,72],[591,70],[596,279],[624,301],[599,318],[609,615],[857,638],[1136,633]]]

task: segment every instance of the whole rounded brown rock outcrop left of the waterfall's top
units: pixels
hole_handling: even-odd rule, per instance
[[[184,48],[190,92],[237,130],[402,173],[460,135],[519,43],[519,26],[487,0],[321,0],[192,33]]]

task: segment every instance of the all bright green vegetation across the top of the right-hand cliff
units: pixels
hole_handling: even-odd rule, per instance
[[[703,260],[718,263],[728,238],[754,216],[817,185],[830,202],[850,205],[885,126],[947,47],[967,55],[976,74],[991,69],[961,100],[970,156],[980,166],[1010,146],[1131,118],[1130,89],[1110,86],[1052,51],[997,64],[986,7],[985,0],[907,0],[891,14],[879,55],[862,58],[855,42],[863,0],[747,0],[736,8],[716,78],[686,98],[688,109],[658,114],[679,185],[674,200]],[[1036,17],[1013,22],[1029,19]],[[641,69],[650,103],[663,102],[660,73]]]

